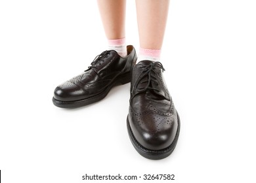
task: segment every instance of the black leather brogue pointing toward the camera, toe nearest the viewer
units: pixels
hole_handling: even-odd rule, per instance
[[[133,146],[148,159],[169,156],[178,141],[180,120],[163,81],[160,62],[133,67],[127,129]]]

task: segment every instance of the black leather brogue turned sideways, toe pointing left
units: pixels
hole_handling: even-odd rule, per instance
[[[131,81],[131,69],[137,60],[135,48],[127,46],[127,57],[107,50],[96,56],[89,69],[60,84],[54,90],[57,107],[81,107],[103,99],[116,84]]]

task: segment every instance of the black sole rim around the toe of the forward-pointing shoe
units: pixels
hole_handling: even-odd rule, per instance
[[[179,133],[180,133],[180,129],[181,129],[181,122],[180,122],[178,112],[177,112],[177,117],[178,117],[178,128],[177,128],[177,132],[176,132],[176,135],[175,135],[175,139],[173,140],[171,145],[168,146],[167,148],[164,148],[163,150],[150,150],[148,148],[144,148],[144,146],[142,146],[135,139],[135,137],[133,135],[133,132],[131,131],[131,127],[130,127],[128,116],[127,116],[127,130],[128,130],[129,138],[131,139],[131,142],[132,142],[133,146],[135,147],[135,150],[137,150],[137,152],[139,152],[139,154],[141,156],[143,156],[144,158],[148,158],[148,159],[163,159],[163,158],[166,158],[167,156],[169,156],[173,152],[173,150],[175,149],[175,146],[176,146],[177,141],[179,139]]]

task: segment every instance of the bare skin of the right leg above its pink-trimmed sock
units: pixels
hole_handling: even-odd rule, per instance
[[[140,48],[161,50],[169,0],[136,0]]]

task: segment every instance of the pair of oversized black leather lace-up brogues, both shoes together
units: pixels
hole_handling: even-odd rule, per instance
[[[81,75],[54,90],[53,104],[72,108],[103,99],[116,84],[131,82],[127,129],[133,146],[145,158],[162,159],[173,152],[180,120],[163,81],[163,65],[148,60],[135,65],[137,55],[127,46],[127,57],[107,50]]]

